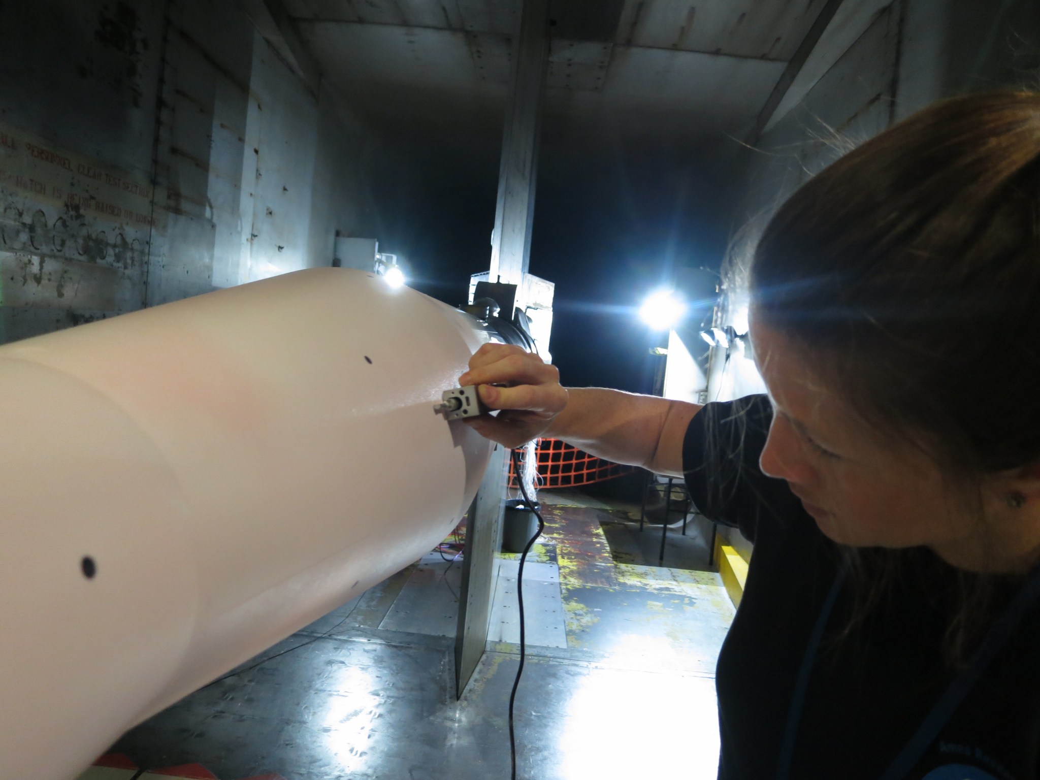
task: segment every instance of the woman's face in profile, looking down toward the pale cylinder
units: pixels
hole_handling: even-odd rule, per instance
[[[754,319],[751,333],[774,408],[761,469],[787,480],[825,535],[853,546],[972,544],[978,523],[947,500],[933,461],[868,430],[779,334]]]

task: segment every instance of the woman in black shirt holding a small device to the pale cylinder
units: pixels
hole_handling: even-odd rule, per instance
[[[488,345],[471,424],[684,474],[755,544],[721,778],[1040,777],[1040,97],[967,96],[784,204],[750,274],[769,396],[570,389]]]

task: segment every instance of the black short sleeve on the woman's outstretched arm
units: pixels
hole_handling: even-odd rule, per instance
[[[708,404],[690,421],[682,444],[694,504],[709,520],[739,528],[751,542],[763,517],[804,512],[787,483],[766,476],[758,466],[772,421],[765,395]]]

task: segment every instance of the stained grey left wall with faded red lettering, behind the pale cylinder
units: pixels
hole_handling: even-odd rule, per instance
[[[234,0],[0,8],[0,340],[331,264],[364,129]]]

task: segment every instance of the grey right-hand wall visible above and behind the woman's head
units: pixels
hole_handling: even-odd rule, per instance
[[[882,9],[747,154],[720,324],[747,328],[743,286],[751,252],[773,211],[800,184],[936,100],[1007,86],[1040,88],[1040,3],[895,0]],[[725,372],[719,370],[723,365]],[[750,357],[731,354],[712,366],[712,398],[761,389]]]

